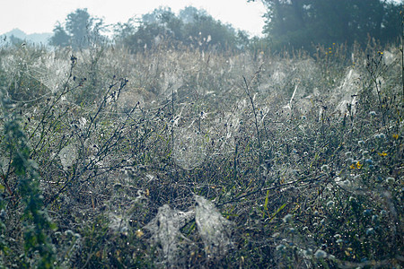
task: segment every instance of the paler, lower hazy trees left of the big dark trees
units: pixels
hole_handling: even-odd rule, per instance
[[[67,16],[65,24],[57,23],[50,44],[86,48],[93,41],[107,39],[100,34],[104,29],[102,20],[92,18],[86,9],[78,9]],[[192,6],[178,15],[169,7],[160,7],[141,18],[114,25],[113,32],[115,44],[132,52],[154,48],[162,41],[175,48],[242,49],[250,40],[245,31],[235,30],[231,25],[215,20],[205,10]]]

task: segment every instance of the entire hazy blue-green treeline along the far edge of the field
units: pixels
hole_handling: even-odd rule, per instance
[[[107,26],[87,9],[77,9],[57,22],[49,44],[87,48],[94,42],[111,41],[131,52],[145,52],[163,44],[172,48],[201,50],[301,49],[315,51],[330,44],[358,43],[369,39],[382,45],[402,34],[402,4],[382,0],[263,0],[267,6],[264,37],[250,37],[243,30],[215,20],[205,10],[185,7],[178,14],[160,7],[140,18]],[[103,36],[113,29],[112,38]]]

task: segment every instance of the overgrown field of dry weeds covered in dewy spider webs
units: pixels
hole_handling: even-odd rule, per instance
[[[400,48],[0,48],[5,268],[401,268]]]

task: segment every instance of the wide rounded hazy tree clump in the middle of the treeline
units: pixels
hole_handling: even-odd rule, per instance
[[[248,36],[238,33],[231,25],[216,21],[205,10],[188,6],[179,16],[168,7],[159,7],[152,13],[142,16],[135,26],[133,22],[119,24],[116,27],[116,41],[132,51],[143,51],[160,44],[161,40],[170,46],[183,44],[199,49],[243,48]],[[237,46],[237,42],[242,42]]]

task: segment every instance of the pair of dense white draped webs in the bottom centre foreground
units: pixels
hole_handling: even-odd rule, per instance
[[[208,258],[223,256],[233,246],[230,238],[232,222],[226,220],[215,204],[204,197],[195,195],[195,201],[195,210],[188,212],[171,209],[168,204],[164,204],[145,226],[151,232],[151,243],[160,251],[160,258],[165,265],[175,265],[176,259],[186,255],[184,251],[196,244],[180,230],[187,222],[194,220]]]

